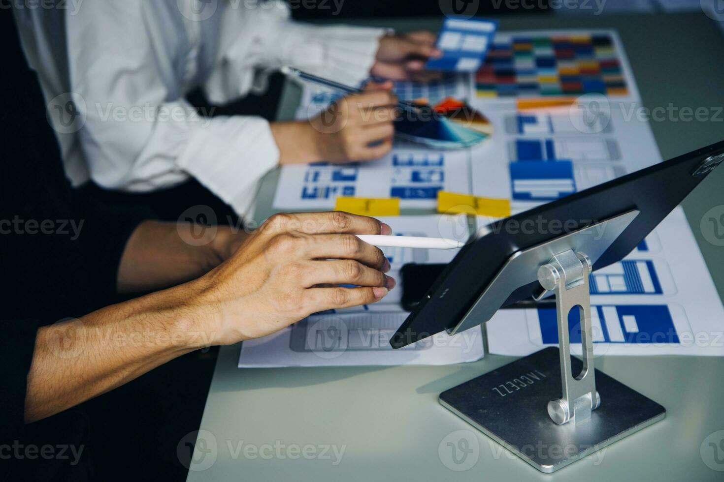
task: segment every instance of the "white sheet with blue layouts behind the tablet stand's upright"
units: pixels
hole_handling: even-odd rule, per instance
[[[623,262],[594,272],[591,291],[597,356],[724,356],[724,307],[681,207]],[[500,310],[487,330],[500,355],[557,344],[555,309]]]

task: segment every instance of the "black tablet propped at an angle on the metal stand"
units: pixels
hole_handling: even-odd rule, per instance
[[[401,348],[438,332],[458,332],[461,320],[466,320],[462,328],[467,329],[487,322],[497,309],[539,296],[540,284],[531,281],[505,293],[500,306],[487,306],[484,311],[489,316],[469,316],[509,260],[561,236],[628,215],[628,225],[594,260],[593,270],[620,261],[723,160],[724,141],[488,225],[447,264],[390,345]]]

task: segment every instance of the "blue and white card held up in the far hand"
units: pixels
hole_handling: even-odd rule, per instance
[[[437,48],[442,51],[442,56],[427,61],[425,68],[475,72],[483,64],[496,30],[495,20],[476,18],[445,20],[437,38]]]

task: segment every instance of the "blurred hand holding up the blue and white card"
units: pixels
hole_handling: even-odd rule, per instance
[[[370,73],[393,80],[427,81],[439,78],[439,72],[425,71],[425,62],[442,52],[435,47],[437,36],[419,31],[401,35],[385,35],[379,40],[375,63]]]

